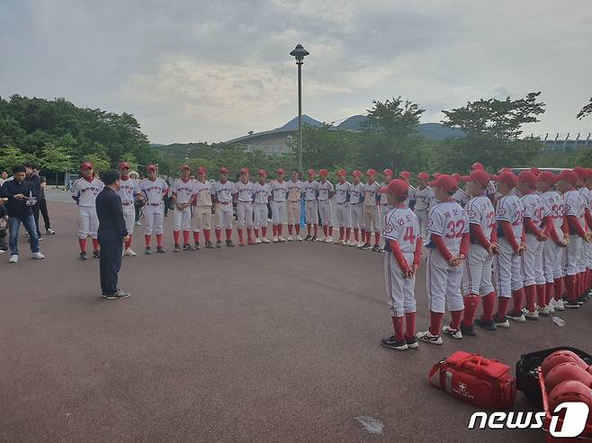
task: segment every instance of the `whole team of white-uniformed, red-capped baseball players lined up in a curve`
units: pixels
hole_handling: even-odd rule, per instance
[[[94,175],[93,164],[82,164],[81,172],[82,178],[73,184],[71,192],[78,208],[80,257],[85,260],[88,235],[93,238],[94,256],[100,254],[94,201],[103,182]],[[162,245],[163,198],[169,192],[174,208],[175,252],[181,251],[181,240],[185,251],[200,249],[200,233],[204,246],[214,247],[210,235],[212,207],[216,247],[221,247],[222,230],[226,245],[234,246],[233,202],[240,246],[246,244],[245,230],[247,244],[270,243],[266,233],[268,204],[272,241],[285,241],[286,222],[288,240],[301,241],[301,199],[307,226],[305,240],[334,243],[331,203],[335,197],[339,227],[335,243],[385,253],[385,285],[394,333],[381,344],[393,350],[417,349],[418,341],[442,344],[441,332],[453,339],[476,335],[475,325],[488,331],[509,328],[509,320],[525,323],[566,307],[576,309],[590,296],[589,169],[576,167],[554,174],[533,168],[518,175],[504,169],[490,175],[476,163],[468,176],[435,173],[430,181],[427,173],[419,173],[417,188],[409,184],[410,173],[400,173],[393,179],[390,169],[381,173],[381,183],[375,181],[377,173],[372,169],[354,171],[352,182],[348,182],[342,169],[333,185],[327,181],[326,169],[318,171],[318,181],[311,169],[306,182],[300,182],[297,172],[284,181],[284,171],[278,169],[272,181],[259,170],[257,182],[251,182],[245,168],[238,182],[230,182],[229,171],[223,167],[219,180],[211,182],[203,167],[197,168],[197,180],[192,180],[190,167],[183,164],[180,177],[170,188],[158,177],[156,165],[148,165],[148,178],[140,182],[130,177],[127,163],[120,164],[120,173],[119,196],[129,234],[124,245],[127,256],[136,255],[131,250],[135,206],[144,208],[145,253],[152,253],[153,234],[157,253],[166,253]],[[466,190],[461,183],[466,183]],[[322,236],[318,236],[318,226],[322,226]],[[416,333],[415,283],[424,243],[430,324],[425,332]],[[476,317],[480,299],[482,314]],[[446,306],[452,318],[443,327]]]

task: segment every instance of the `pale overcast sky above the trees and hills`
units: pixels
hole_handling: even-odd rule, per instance
[[[0,95],[133,113],[153,143],[217,142],[298,112],[343,120],[372,99],[423,122],[467,101],[543,91],[526,128],[588,132],[590,0],[0,0]]]

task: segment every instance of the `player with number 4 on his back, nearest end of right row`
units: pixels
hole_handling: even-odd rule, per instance
[[[394,334],[381,344],[393,350],[417,349],[415,337],[417,306],[415,299],[416,272],[421,260],[422,238],[417,217],[408,208],[408,184],[392,180],[382,188],[392,207],[383,220],[385,241],[384,279],[387,303]],[[405,329],[403,327],[405,321]]]

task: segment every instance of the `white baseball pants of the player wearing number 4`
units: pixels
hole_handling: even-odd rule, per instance
[[[413,265],[414,253],[403,253],[409,267]],[[384,280],[387,288],[387,303],[391,316],[401,317],[417,311],[415,286],[416,278],[406,279],[399,263],[387,252],[384,255]]]

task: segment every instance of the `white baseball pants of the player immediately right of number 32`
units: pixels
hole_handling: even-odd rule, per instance
[[[469,254],[462,264],[462,295],[485,297],[494,291],[491,283],[493,257],[480,244],[470,244]]]

